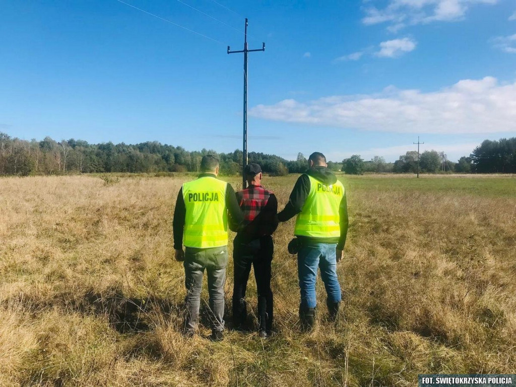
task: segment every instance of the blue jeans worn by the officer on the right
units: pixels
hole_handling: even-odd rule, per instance
[[[337,245],[332,243],[313,243],[305,241],[297,254],[297,271],[301,291],[301,308],[315,308],[315,281],[317,267],[321,272],[329,302],[341,301],[341,285],[337,279]]]

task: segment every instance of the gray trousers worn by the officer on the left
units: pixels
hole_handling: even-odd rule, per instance
[[[186,248],[183,263],[186,286],[186,332],[197,328],[205,269],[208,277],[209,316],[212,330],[222,331],[224,329],[224,282],[227,264],[227,246],[208,249]]]

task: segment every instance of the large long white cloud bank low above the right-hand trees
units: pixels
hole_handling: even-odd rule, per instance
[[[516,82],[464,79],[434,92],[386,88],[377,94],[337,95],[307,103],[294,99],[257,105],[250,115],[296,122],[398,133],[501,133],[516,131]]]

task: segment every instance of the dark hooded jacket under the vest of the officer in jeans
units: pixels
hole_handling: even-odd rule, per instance
[[[308,194],[310,193],[309,175],[312,176],[312,178],[327,185],[334,184],[337,181],[335,174],[333,174],[333,172],[328,170],[326,167],[314,167],[311,168],[307,173],[299,176],[299,179],[297,180],[296,184],[294,185],[294,189],[292,190],[290,200],[288,201],[283,211],[278,214],[278,219],[280,222],[284,222],[295,217],[303,209],[304,202],[307,200]],[[338,250],[344,249],[349,222],[347,206],[346,192],[344,191],[344,196],[342,197],[341,204],[338,208],[341,226],[340,237],[314,238],[308,236],[299,236],[298,238],[307,241],[314,241],[316,243],[336,243]]]

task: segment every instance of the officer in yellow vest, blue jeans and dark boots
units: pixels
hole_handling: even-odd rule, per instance
[[[310,330],[315,322],[317,268],[326,288],[330,319],[335,320],[337,316],[341,287],[336,264],[342,259],[348,230],[344,186],[328,170],[324,154],[312,153],[308,163],[309,171],[299,177],[289,202],[278,214],[281,222],[297,215],[294,234],[301,291],[299,318],[305,330]],[[289,249],[291,246],[289,244]]]

